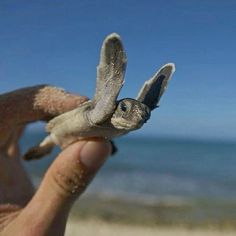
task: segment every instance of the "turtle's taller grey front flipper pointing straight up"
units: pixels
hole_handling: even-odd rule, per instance
[[[92,123],[105,121],[114,112],[116,100],[124,83],[126,54],[118,34],[113,33],[103,42],[97,67],[94,109],[89,113]]]

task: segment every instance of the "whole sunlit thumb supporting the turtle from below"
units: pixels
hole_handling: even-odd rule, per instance
[[[80,141],[67,147],[49,168],[37,193],[21,213],[24,221],[34,215],[34,223],[43,227],[55,222],[63,225],[71,205],[110,152],[110,144],[105,141]]]

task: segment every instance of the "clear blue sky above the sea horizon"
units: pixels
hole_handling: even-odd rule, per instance
[[[0,92],[49,83],[92,97],[104,37],[128,56],[120,97],[176,73],[136,135],[236,138],[236,1],[0,1]]]

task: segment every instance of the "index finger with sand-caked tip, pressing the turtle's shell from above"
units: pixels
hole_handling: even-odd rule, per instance
[[[47,120],[71,110],[87,100],[64,90],[38,85],[0,96],[1,124],[15,126],[36,120]]]

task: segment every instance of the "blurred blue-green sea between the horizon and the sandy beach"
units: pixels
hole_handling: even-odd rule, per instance
[[[22,150],[44,136],[26,133]],[[134,136],[115,143],[118,153],[100,170],[84,199],[149,207],[154,218],[158,218],[156,207],[164,206],[178,208],[178,217],[172,213],[184,222],[186,216],[195,222],[236,222],[236,143]],[[25,163],[36,185],[58,152],[57,148],[49,157]],[[180,209],[185,210],[180,214]],[[172,213],[166,221],[173,222]]]

